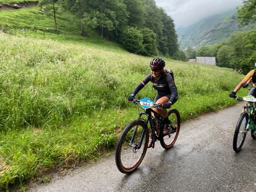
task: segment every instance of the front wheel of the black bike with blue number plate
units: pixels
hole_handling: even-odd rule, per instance
[[[148,138],[143,120],[134,120],[124,128],[116,146],[116,166],[120,172],[132,173],[139,167],[147,152]]]

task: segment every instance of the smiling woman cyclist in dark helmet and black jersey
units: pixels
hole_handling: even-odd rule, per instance
[[[128,100],[133,101],[135,95],[139,93],[149,81],[151,81],[153,83],[153,88],[158,91],[155,96],[155,102],[161,104],[161,107],[163,107],[163,109],[153,108],[153,110],[164,118],[165,125],[163,134],[168,135],[175,133],[176,130],[173,127],[169,128],[170,120],[168,119],[167,109],[177,101],[178,94],[174,79],[172,75],[164,69],[164,66],[165,62],[160,57],[153,59],[150,62],[151,73],[135,88]],[[153,140],[151,138],[150,141],[148,141],[148,148],[151,148],[152,144]]]

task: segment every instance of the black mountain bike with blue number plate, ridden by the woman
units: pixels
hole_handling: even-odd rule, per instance
[[[179,111],[170,109],[168,111],[170,126],[176,129],[176,132],[163,135],[164,119],[152,109],[161,108],[160,104],[154,103],[149,98],[134,99],[132,103],[139,105],[139,117],[126,125],[116,146],[116,165],[122,173],[132,173],[139,167],[147,152],[150,132],[153,139],[152,148],[155,148],[156,141],[160,141],[164,149],[170,149],[176,142],[181,127]]]

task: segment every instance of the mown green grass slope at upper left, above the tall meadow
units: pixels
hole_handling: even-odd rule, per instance
[[[0,11],[0,28],[7,33],[19,36],[47,38],[75,44],[82,42],[92,48],[123,51],[119,44],[103,40],[93,29],[88,28],[87,36],[81,36],[80,20],[69,12],[58,9],[56,17],[60,35],[55,31],[53,14],[43,12],[40,7]]]

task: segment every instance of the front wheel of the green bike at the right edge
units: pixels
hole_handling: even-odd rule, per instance
[[[244,144],[245,137],[247,135],[247,124],[249,120],[248,112],[242,112],[241,116],[236,125],[233,138],[233,149],[236,152],[241,151],[242,145]]]

